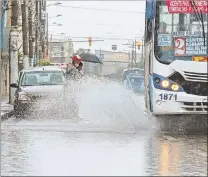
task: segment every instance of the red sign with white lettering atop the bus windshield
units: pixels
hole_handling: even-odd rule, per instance
[[[166,0],[169,13],[194,13],[194,8],[190,0]],[[194,0],[198,12],[206,14],[208,12],[207,0]]]

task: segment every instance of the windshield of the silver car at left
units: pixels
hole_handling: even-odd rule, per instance
[[[22,86],[62,85],[64,73],[62,71],[33,71],[23,75]]]

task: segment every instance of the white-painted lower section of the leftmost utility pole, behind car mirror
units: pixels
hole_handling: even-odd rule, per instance
[[[19,32],[16,27],[10,31],[10,83],[16,83],[18,79],[18,38]],[[9,102],[14,103],[15,89],[9,92]]]

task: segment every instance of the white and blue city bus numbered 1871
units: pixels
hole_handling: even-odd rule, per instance
[[[146,0],[147,112],[207,114],[207,3],[207,0]]]

